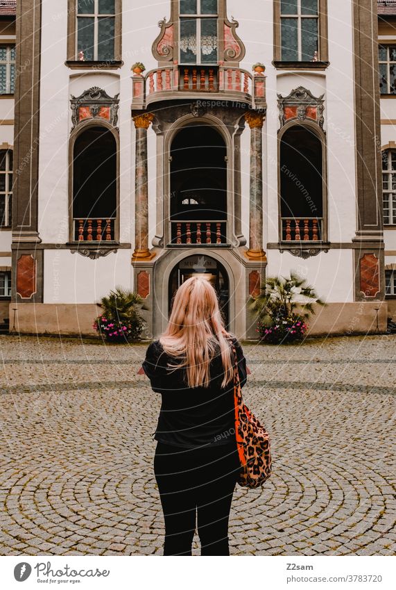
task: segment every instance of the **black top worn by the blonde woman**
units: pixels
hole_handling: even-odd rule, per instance
[[[241,387],[246,384],[246,359],[233,336]],[[166,363],[175,357],[153,341],[142,364],[153,391],[162,395],[160,417],[154,438],[184,448],[236,444],[234,423],[234,379],[221,388],[224,377],[220,347],[210,363],[209,387],[188,387],[184,368],[170,372]],[[187,377],[186,377],[187,378]]]

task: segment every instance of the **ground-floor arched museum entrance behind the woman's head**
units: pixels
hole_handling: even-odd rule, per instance
[[[187,256],[175,265],[169,277],[169,313],[175,291],[194,274],[207,279],[216,290],[225,327],[230,329],[230,281],[224,266],[212,256],[203,254]]]

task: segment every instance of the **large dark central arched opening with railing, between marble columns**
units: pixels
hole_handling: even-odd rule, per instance
[[[225,244],[227,150],[208,124],[190,124],[171,144],[171,243]]]

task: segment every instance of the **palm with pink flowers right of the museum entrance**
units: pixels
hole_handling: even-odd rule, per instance
[[[298,301],[300,297],[305,301]],[[301,341],[315,313],[313,304],[327,305],[307,279],[293,270],[290,278],[266,277],[260,293],[248,299],[248,309],[257,316],[260,341],[271,344]]]

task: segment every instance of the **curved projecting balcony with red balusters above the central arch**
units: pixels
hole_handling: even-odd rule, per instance
[[[266,77],[227,66],[173,65],[158,67],[143,76],[132,76],[132,108],[169,99],[230,99],[252,106],[266,106]]]

